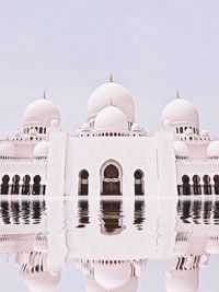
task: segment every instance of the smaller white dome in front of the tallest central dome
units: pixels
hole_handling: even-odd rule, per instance
[[[128,121],[125,114],[115,106],[107,106],[102,109],[94,121],[95,131],[128,131]]]

